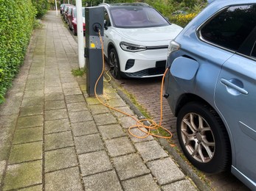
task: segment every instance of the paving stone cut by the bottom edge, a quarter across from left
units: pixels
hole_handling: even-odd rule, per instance
[[[45,190],[83,190],[80,182],[78,167],[71,167],[65,170],[58,170],[45,174]]]

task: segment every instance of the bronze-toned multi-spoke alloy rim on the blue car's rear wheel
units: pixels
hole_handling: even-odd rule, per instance
[[[181,139],[190,156],[198,162],[210,162],[215,154],[212,129],[201,115],[188,113],[181,122]]]

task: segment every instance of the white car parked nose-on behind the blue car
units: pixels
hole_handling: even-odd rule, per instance
[[[162,76],[168,43],[181,32],[144,3],[104,7],[104,54],[116,79]]]

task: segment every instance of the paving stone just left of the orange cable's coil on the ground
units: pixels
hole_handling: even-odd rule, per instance
[[[98,126],[103,140],[109,140],[116,137],[125,136],[125,132],[122,130],[122,127],[118,124],[112,124],[107,126]]]

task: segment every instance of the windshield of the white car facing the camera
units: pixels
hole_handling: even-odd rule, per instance
[[[110,12],[114,26],[120,28],[145,28],[170,25],[152,7],[113,7]]]

